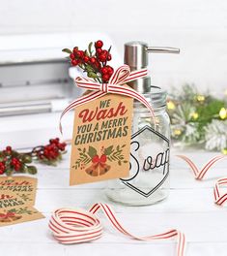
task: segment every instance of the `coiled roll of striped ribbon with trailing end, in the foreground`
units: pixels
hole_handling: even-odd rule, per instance
[[[139,238],[128,233],[117,220],[113,209],[102,203],[95,204],[89,211],[81,208],[60,208],[55,210],[49,220],[49,228],[54,238],[66,244],[98,240],[102,235],[102,226],[95,213],[99,209],[102,210],[116,230],[131,239],[150,241],[167,240],[177,237],[177,256],[185,255],[185,237],[183,233],[173,229],[162,234]]]

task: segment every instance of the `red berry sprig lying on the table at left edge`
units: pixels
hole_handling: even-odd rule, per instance
[[[0,175],[11,176],[14,173],[37,174],[37,168],[30,165],[33,160],[47,165],[56,165],[66,153],[65,143],[60,143],[58,138],[49,140],[49,144],[39,145],[30,152],[19,153],[8,145],[0,151]]]

